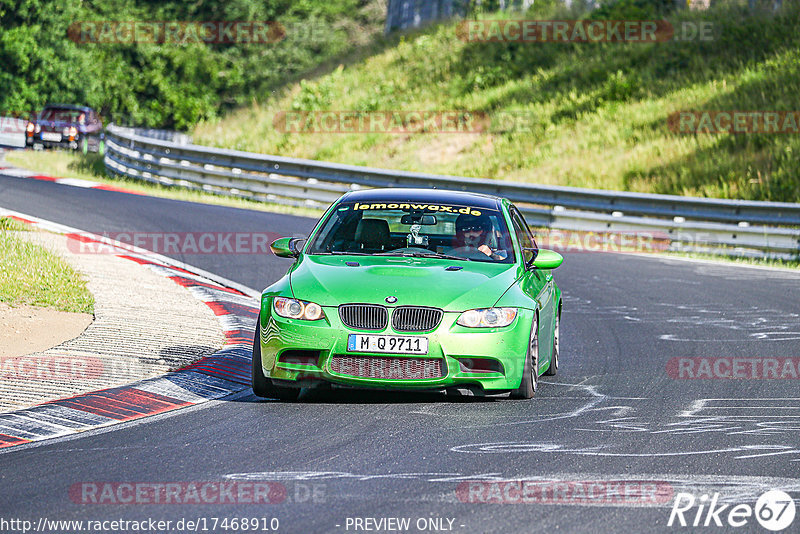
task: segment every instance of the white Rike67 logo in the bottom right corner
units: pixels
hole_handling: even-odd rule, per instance
[[[691,493],[678,493],[667,526],[738,528],[755,518],[765,529],[779,532],[792,524],[795,512],[794,500],[781,490],[764,493],[755,506],[720,504],[719,493],[710,498],[701,495],[699,499]]]

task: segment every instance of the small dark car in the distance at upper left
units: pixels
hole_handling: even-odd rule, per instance
[[[70,148],[87,152],[105,152],[103,122],[95,110],[86,106],[48,104],[28,122],[26,145],[42,148]]]

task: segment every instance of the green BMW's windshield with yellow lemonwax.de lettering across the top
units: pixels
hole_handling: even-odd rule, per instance
[[[340,203],[306,253],[514,262],[508,226],[499,210],[411,201]]]

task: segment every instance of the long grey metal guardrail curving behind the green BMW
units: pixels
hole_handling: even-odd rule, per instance
[[[506,197],[532,226],[580,232],[648,233],[674,248],[795,258],[800,204],[723,200],[543,186],[284,158],[174,143],[110,125],[109,172],[222,195],[325,207],[372,187],[441,188]]]

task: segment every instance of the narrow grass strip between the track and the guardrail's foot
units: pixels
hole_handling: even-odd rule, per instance
[[[318,218],[322,215],[321,210],[315,210],[313,208],[267,204],[254,200],[214,195],[202,191],[192,191],[180,187],[169,187],[131,178],[112,177],[105,173],[103,160],[96,154],[83,155],[62,150],[16,150],[6,153],[5,160],[11,165],[33,170],[41,174],[60,178],[90,180],[114,187],[129,189],[131,191],[137,191],[154,197],[273,213],[289,213],[313,218]]]

